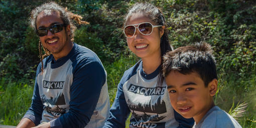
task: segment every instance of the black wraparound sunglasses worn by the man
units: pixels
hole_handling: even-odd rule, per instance
[[[48,34],[48,30],[54,34],[54,33],[58,33],[60,31],[63,30],[63,27],[66,27],[66,25],[64,24],[55,24],[55,25],[52,25],[48,28],[40,28],[37,30],[37,35],[39,37],[43,37],[43,36],[46,36]]]

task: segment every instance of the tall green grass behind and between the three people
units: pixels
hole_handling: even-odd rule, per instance
[[[120,57],[113,63],[104,63],[107,71],[107,83],[110,104],[113,103],[117,84],[125,70],[132,67],[138,58]],[[256,72],[239,76],[235,73],[220,70],[218,92],[215,95],[215,104],[231,115],[238,115],[237,110],[245,110],[239,113],[237,121],[242,127],[256,127]],[[33,83],[22,84],[0,80],[0,124],[17,125],[31,104],[33,94]],[[247,103],[247,107],[244,104]],[[130,115],[131,117],[131,115]],[[126,127],[129,127],[130,117],[126,120]]]

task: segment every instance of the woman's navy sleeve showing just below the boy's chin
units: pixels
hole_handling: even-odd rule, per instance
[[[193,127],[195,121],[193,118],[184,118],[182,115],[180,115],[177,111],[174,111],[174,117],[177,122],[179,122],[178,128],[183,128],[183,127]]]

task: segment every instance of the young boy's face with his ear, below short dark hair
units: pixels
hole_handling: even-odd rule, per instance
[[[178,71],[171,71],[165,80],[171,104],[183,117],[193,117],[196,122],[200,121],[214,105],[212,96],[217,90],[216,79],[205,87],[204,81],[196,72],[184,75]]]

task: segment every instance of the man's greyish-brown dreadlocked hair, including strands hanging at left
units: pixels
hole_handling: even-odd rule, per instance
[[[70,33],[71,34],[69,35],[69,37],[70,37],[71,41],[74,40],[74,31],[76,30],[76,27],[73,25],[71,20],[76,21],[76,23],[79,25],[80,24],[89,24],[88,22],[81,21],[81,19],[83,17],[69,12],[67,10],[67,8],[63,8],[63,7],[59,6],[58,4],[56,4],[55,2],[50,2],[50,3],[45,3],[45,4],[35,8],[34,10],[32,10],[29,20],[31,23],[31,27],[35,30],[35,32],[37,31],[37,25],[36,25],[37,16],[41,12],[44,12],[46,15],[51,15],[52,12],[59,12],[61,20],[63,21],[64,25],[70,25]],[[45,51],[44,55],[42,55],[41,47],[43,47],[43,49]],[[51,55],[51,52],[42,45],[41,41],[39,41],[39,43],[38,43],[38,49],[39,49],[40,60],[41,60],[41,64],[42,64],[41,71],[43,72],[43,69],[44,69],[43,59],[44,59],[44,57]]]

